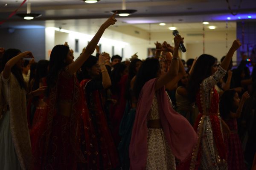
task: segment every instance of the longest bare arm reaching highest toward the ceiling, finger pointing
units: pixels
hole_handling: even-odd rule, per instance
[[[116,23],[115,15],[116,15],[116,13],[113,14],[111,17],[109,17],[108,20],[106,20],[105,23],[102,24],[102,26],[99,28],[97,33],[94,35],[93,39],[89,42],[89,44],[87,45],[85,50],[82,52],[80,57],[78,59],[76,59],[75,62],[68,65],[68,71],[69,71],[70,75],[74,74],[81,67],[81,65],[88,59],[88,57],[91,54],[93,54],[93,52],[96,48],[96,45],[98,44],[104,31],[109,26],[114,25]]]

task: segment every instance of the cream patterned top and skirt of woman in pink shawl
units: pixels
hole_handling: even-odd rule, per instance
[[[157,97],[147,116],[147,120],[160,119]],[[175,156],[167,143],[163,129],[148,128],[146,170],[176,170]]]

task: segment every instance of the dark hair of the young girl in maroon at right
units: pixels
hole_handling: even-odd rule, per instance
[[[235,90],[227,90],[221,95],[220,99],[220,116],[222,119],[228,119],[230,112],[235,113],[236,107],[234,106]]]

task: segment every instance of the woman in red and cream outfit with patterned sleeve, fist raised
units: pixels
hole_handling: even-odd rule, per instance
[[[227,125],[221,125],[218,113],[219,96],[214,86],[227,73],[233,54],[240,45],[239,40],[233,42],[218,68],[215,57],[202,54],[192,69],[188,97],[191,102],[196,102],[200,114],[194,125],[198,142],[193,149],[190,168],[187,169],[227,170],[227,151],[222,133],[222,129],[227,128]]]

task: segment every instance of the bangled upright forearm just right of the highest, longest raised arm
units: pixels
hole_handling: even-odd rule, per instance
[[[100,70],[102,72],[102,85],[103,88],[109,88],[111,86],[111,79],[108,75],[108,70],[105,66],[105,57],[102,55],[99,55],[99,66]]]

